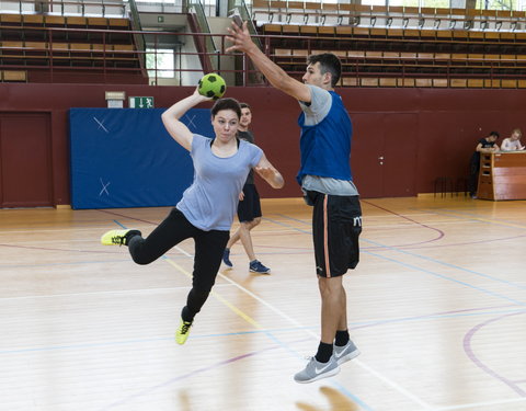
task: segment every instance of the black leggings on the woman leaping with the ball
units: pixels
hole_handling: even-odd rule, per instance
[[[192,321],[210,294],[229,237],[229,231],[203,231],[194,227],[183,213],[173,208],[146,239],[140,236],[133,237],[128,242],[128,250],[137,264],[149,264],[181,241],[194,239],[192,289],[186,299],[186,309],[183,310],[183,319]]]

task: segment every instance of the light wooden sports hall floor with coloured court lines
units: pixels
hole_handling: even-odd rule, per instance
[[[173,340],[193,243],[139,266],[107,229],[168,208],[0,210],[0,410],[526,410],[526,202],[364,199],[345,276],[362,351],[330,379],[293,375],[318,345],[310,209],[265,201],[185,345]]]

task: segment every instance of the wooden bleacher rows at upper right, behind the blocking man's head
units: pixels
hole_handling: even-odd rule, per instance
[[[254,0],[271,57],[298,77],[305,57],[342,59],[341,85],[524,88],[526,12]]]

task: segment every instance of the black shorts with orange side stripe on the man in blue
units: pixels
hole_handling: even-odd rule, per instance
[[[362,208],[357,195],[328,195],[315,191],[306,194],[313,205],[312,238],[316,272],[321,277],[338,277],[359,261],[358,237]]]

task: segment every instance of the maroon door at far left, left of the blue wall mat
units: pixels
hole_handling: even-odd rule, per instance
[[[0,113],[0,207],[53,206],[49,115]]]

